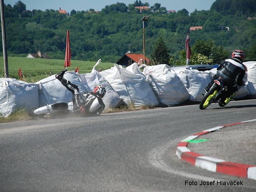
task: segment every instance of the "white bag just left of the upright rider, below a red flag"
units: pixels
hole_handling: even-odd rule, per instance
[[[191,101],[202,101],[204,88],[212,80],[209,72],[202,72],[194,69],[181,70],[177,75],[189,92]],[[202,93],[201,93],[202,92]]]

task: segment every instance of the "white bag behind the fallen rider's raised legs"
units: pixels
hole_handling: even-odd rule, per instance
[[[76,74],[75,71],[66,72],[64,78],[77,85],[79,91],[87,92],[88,88],[82,84],[80,75]],[[55,78],[55,75],[44,78],[36,82],[36,84],[39,84],[39,102],[41,106],[60,102],[72,102],[72,92],[68,91],[67,88]]]

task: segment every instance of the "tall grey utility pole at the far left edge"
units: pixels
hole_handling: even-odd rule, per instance
[[[0,14],[1,14],[2,42],[3,42],[3,55],[4,55],[4,77],[8,78],[9,70],[8,70],[6,33],[5,33],[4,0],[1,0],[1,3],[0,3]]]

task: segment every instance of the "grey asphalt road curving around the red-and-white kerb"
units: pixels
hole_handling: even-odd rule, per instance
[[[0,124],[0,191],[256,191],[254,180],[209,172],[175,155],[189,135],[250,119],[256,100]],[[243,186],[216,186],[234,180]]]

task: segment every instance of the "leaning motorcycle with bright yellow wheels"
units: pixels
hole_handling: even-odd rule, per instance
[[[209,91],[204,95],[204,99],[200,102],[199,108],[206,109],[211,103],[219,103],[220,107],[224,107],[231,101],[236,92],[234,92],[231,96],[227,98],[223,98],[224,102],[220,102],[219,100],[222,99],[222,93],[227,91],[227,86],[224,85],[222,78],[219,77],[218,79],[214,80],[213,85],[210,87]]]

